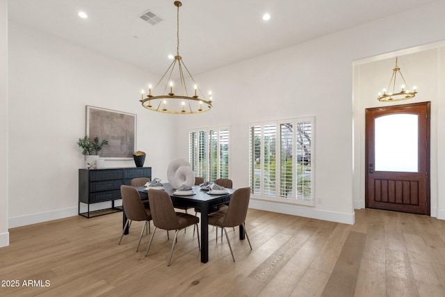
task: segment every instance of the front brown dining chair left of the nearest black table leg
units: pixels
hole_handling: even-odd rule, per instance
[[[170,266],[179,230],[182,230],[185,227],[191,225],[197,226],[197,223],[200,223],[200,218],[198,218],[197,216],[193,216],[191,214],[175,212],[175,208],[173,207],[170,195],[168,195],[168,193],[165,191],[154,190],[150,188],[148,190],[148,200],[150,204],[150,209],[152,211],[154,230],[152,238],[148,243],[147,252],[145,252],[145,256],[147,256],[148,250],[152,245],[154,233],[156,232],[157,228],[167,231],[176,230],[175,239],[173,239],[173,244],[172,244],[172,251],[170,252],[170,257],[168,258],[168,263],[167,263],[167,266]],[[197,246],[201,250],[199,231],[197,232]]]

